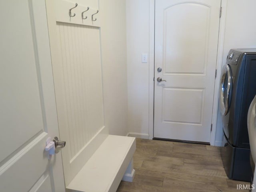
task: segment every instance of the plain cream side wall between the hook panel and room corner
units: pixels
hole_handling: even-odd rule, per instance
[[[128,133],[126,2],[100,0],[105,125],[110,134]]]

